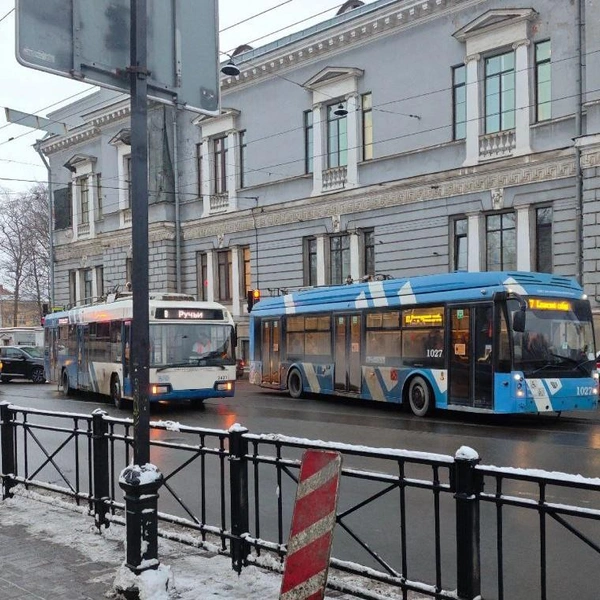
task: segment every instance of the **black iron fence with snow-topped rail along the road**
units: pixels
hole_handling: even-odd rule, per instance
[[[133,424],[97,410],[0,404],[3,498],[16,485],[87,503],[119,521]],[[281,570],[303,452],[343,460],[328,586],[359,598],[595,598],[600,479],[482,466],[456,456],[151,424],[161,535]],[[577,590],[581,591],[577,593]],[[410,597],[413,597],[412,595]]]

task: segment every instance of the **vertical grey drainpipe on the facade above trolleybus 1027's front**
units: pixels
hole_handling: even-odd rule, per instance
[[[585,0],[577,0],[577,109],[575,112],[575,139],[583,134],[583,26],[585,23]],[[583,172],[581,148],[575,144],[575,197],[577,199],[577,278],[583,285]]]

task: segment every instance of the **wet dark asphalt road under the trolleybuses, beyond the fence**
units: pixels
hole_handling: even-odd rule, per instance
[[[27,382],[12,382],[0,385],[0,401],[2,400],[31,408],[86,414],[101,407],[116,417],[131,416],[130,410],[116,410],[97,397],[64,399],[55,386],[50,384],[36,386]],[[234,398],[207,400],[199,408],[187,405],[152,407],[151,419],[217,429],[228,429],[234,423],[239,423],[252,433],[281,433],[312,440],[447,455],[454,455],[459,447],[467,445],[478,452],[485,465],[536,468],[587,477],[600,476],[600,411],[563,414],[560,417],[490,417],[439,412],[430,418],[419,419],[398,407],[380,404],[339,398],[309,397],[292,400],[287,395],[262,390],[250,386],[247,380],[241,380],[238,381]],[[183,441],[175,432],[169,432],[165,439]],[[153,458],[153,462],[160,462],[163,456],[158,458],[158,461]],[[164,472],[169,472],[175,464],[165,458],[164,464],[158,466]],[[271,477],[261,479],[261,489],[266,487],[268,492],[276,492],[271,494],[273,498],[280,493],[279,488],[275,490],[275,486],[276,482]],[[347,501],[359,502],[368,493],[366,490],[363,493],[357,485],[352,493],[347,494],[351,498]],[[215,504],[218,503],[217,495],[215,491]],[[408,498],[408,575],[413,579],[433,583],[431,565],[434,563],[435,550],[431,541],[431,496],[430,492],[419,492]],[[441,561],[445,573],[444,587],[451,587],[455,569],[454,509],[452,499],[447,496],[442,500],[440,509],[444,540]],[[293,497],[293,493],[290,497]],[[389,499],[387,504],[383,501],[373,503],[350,523],[355,531],[364,536],[363,539],[368,537],[369,544],[395,566],[400,560],[399,543],[395,538],[388,540],[388,534],[397,525],[394,522],[398,514],[396,498],[392,506]],[[600,510],[598,497],[584,496],[578,500]],[[554,501],[568,502],[568,498],[558,493]],[[166,499],[165,503],[169,504]],[[275,507],[274,500],[271,505],[263,502],[261,514],[264,517],[264,513],[275,510]],[[164,507],[162,510],[168,512]],[[504,516],[505,598],[539,597],[539,517],[534,515],[532,521],[530,516],[523,515],[522,512],[511,513],[506,510]],[[497,514],[492,505],[482,507],[482,523],[493,523],[496,519]],[[266,518],[264,520],[266,522]],[[269,530],[264,524],[262,527],[262,536],[275,541],[276,531]],[[592,523],[592,526],[585,523],[585,533],[594,543],[600,544],[600,523]],[[600,555],[554,523],[548,525],[548,536],[548,598],[596,598],[592,582],[597,580]],[[381,542],[380,546],[378,542]],[[484,532],[482,528],[482,572],[486,600],[497,597],[496,542],[495,529],[486,527]],[[334,555],[377,566],[365,561],[360,549],[352,548],[352,542],[345,533],[336,534]],[[573,577],[574,569],[578,570],[576,577]],[[573,579],[577,590],[573,589]]]

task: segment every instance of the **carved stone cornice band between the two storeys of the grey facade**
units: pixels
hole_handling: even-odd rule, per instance
[[[586,161],[592,164],[600,162],[600,150],[586,155]],[[575,157],[571,151],[552,153],[549,158],[535,162],[531,157],[523,157],[499,164],[482,165],[469,169],[455,169],[426,177],[416,177],[399,183],[387,185],[381,191],[381,185],[370,188],[356,188],[338,194],[287,202],[276,207],[264,207],[264,212],[256,216],[256,227],[279,227],[299,222],[331,218],[332,214],[347,215],[391,208],[428,200],[452,198],[468,194],[489,193],[491,190],[528,185],[574,177]],[[210,238],[219,233],[232,234],[254,229],[254,222],[247,213],[237,219],[230,214],[224,217],[214,216],[191,223],[184,223],[183,237],[189,239]]]

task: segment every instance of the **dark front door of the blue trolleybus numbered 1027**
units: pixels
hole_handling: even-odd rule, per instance
[[[448,402],[493,408],[492,305],[450,308]]]

